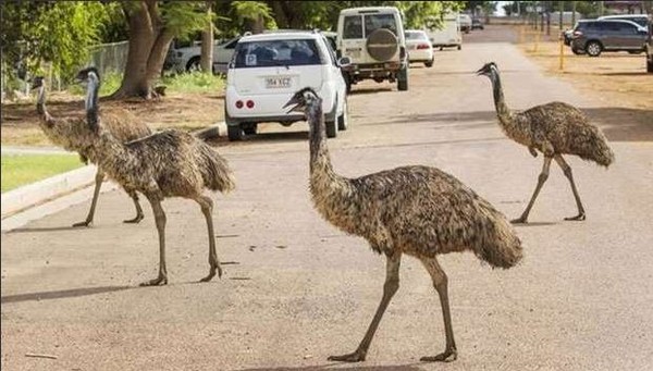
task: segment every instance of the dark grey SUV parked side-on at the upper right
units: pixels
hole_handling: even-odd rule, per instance
[[[631,21],[584,20],[574,27],[571,51],[599,57],[603,51],[644,51],[649,30]]]

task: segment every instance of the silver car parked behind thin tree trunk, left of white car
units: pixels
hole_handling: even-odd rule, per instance
[[[226,41],[215,41],[213,47],[213,73],[226,73],[226,64],[231,61],[234,49],[241,36]],[[201,55],[201,42],[184,45],[175,40],[168,50],[163,67],[175,72],[190,72],[199,70]]]

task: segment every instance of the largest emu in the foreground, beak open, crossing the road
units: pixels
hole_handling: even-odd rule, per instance
[[[438,255],[469,250],[492,267],[510,268],[521,259],[521,242],[505,217],[454,176],[428,166],[403,166],[357,178],[333,171],[326,148],[322,100],[311,88],[297,91],[286,103],[305,112],[310,136],[310,193],[318,212],[342,231],[366,238],[384,253],[383,297],[358,348],[330,360],[356,362],[366,358],[374,332],[399,287],[403,253],[419,259],[440,296],[446,347],[423,361],[457,358],[448,305],[447,276]]]

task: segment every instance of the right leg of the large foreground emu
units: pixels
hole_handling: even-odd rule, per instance
[[[452,326],[452,314],[448,306],[448,293],[447,293],[447,283],[448,279],[446,277],[446,273],[442,270],[438,260],[433,259],[423,259],[422,263],[431,274],[431,279],[433,280],[433,287],[438,292],[440,296],[440,305],[442,306],[442,316],[444,317],[444,334],[446,338],[446,346],[444,351],[433,357],[422,357],[420,361],[423,362],[451,362],[458,358],[458,350],[456,350],[456,342],[454,341],[454,329]]]

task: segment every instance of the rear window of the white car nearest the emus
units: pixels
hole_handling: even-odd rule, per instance
[[[236,69],[325,64],[313,39],[264,40],[238,42]]]

